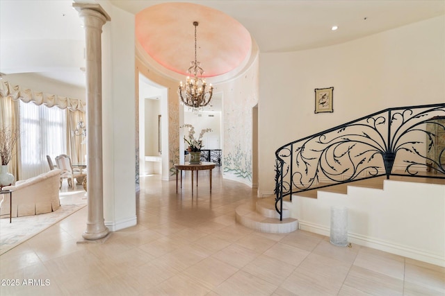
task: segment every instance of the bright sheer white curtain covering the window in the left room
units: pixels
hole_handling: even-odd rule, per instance
[[[67,110],[20,101],[19,179],[26,180],[49,170],[47,155],[53,161],[67,153]]]

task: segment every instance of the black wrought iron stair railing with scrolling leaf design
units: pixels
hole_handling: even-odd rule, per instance
[[[293,141],[275,152],[275,209],[283,198],[373,177],[445,179],[445,103],[394,107]]]

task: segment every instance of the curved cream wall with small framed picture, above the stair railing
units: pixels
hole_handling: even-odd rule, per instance
[[[309,51],[262,53],[259,195],[273,193],[275,150],[387,107],[445,103],[445,17]],[[314,89],[334,87],[333,113]]]

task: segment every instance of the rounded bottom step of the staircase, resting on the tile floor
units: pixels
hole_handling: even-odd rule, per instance
[[[257,202],[257,204],[260,204],[259,207],[262,209],[264,209],[263,207],[268,203],[270,202],[264,201],[264,204],[260,201]],[[273,207],[275,208],[275,204]],[[298,220],[293,218],[283,218],[283,220],[280,221],[280,218],[270,218],[264,216],[259,213],[258,209],[252,207],[250,202],[236,207],[235,219],[237,223],[258,232],[284,234],[298,229]]]

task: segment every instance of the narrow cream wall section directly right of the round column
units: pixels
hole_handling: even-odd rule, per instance
[[[137,222],[134,15],[101,5],[111,17],[102,28],[104,219],[115,231]]]

